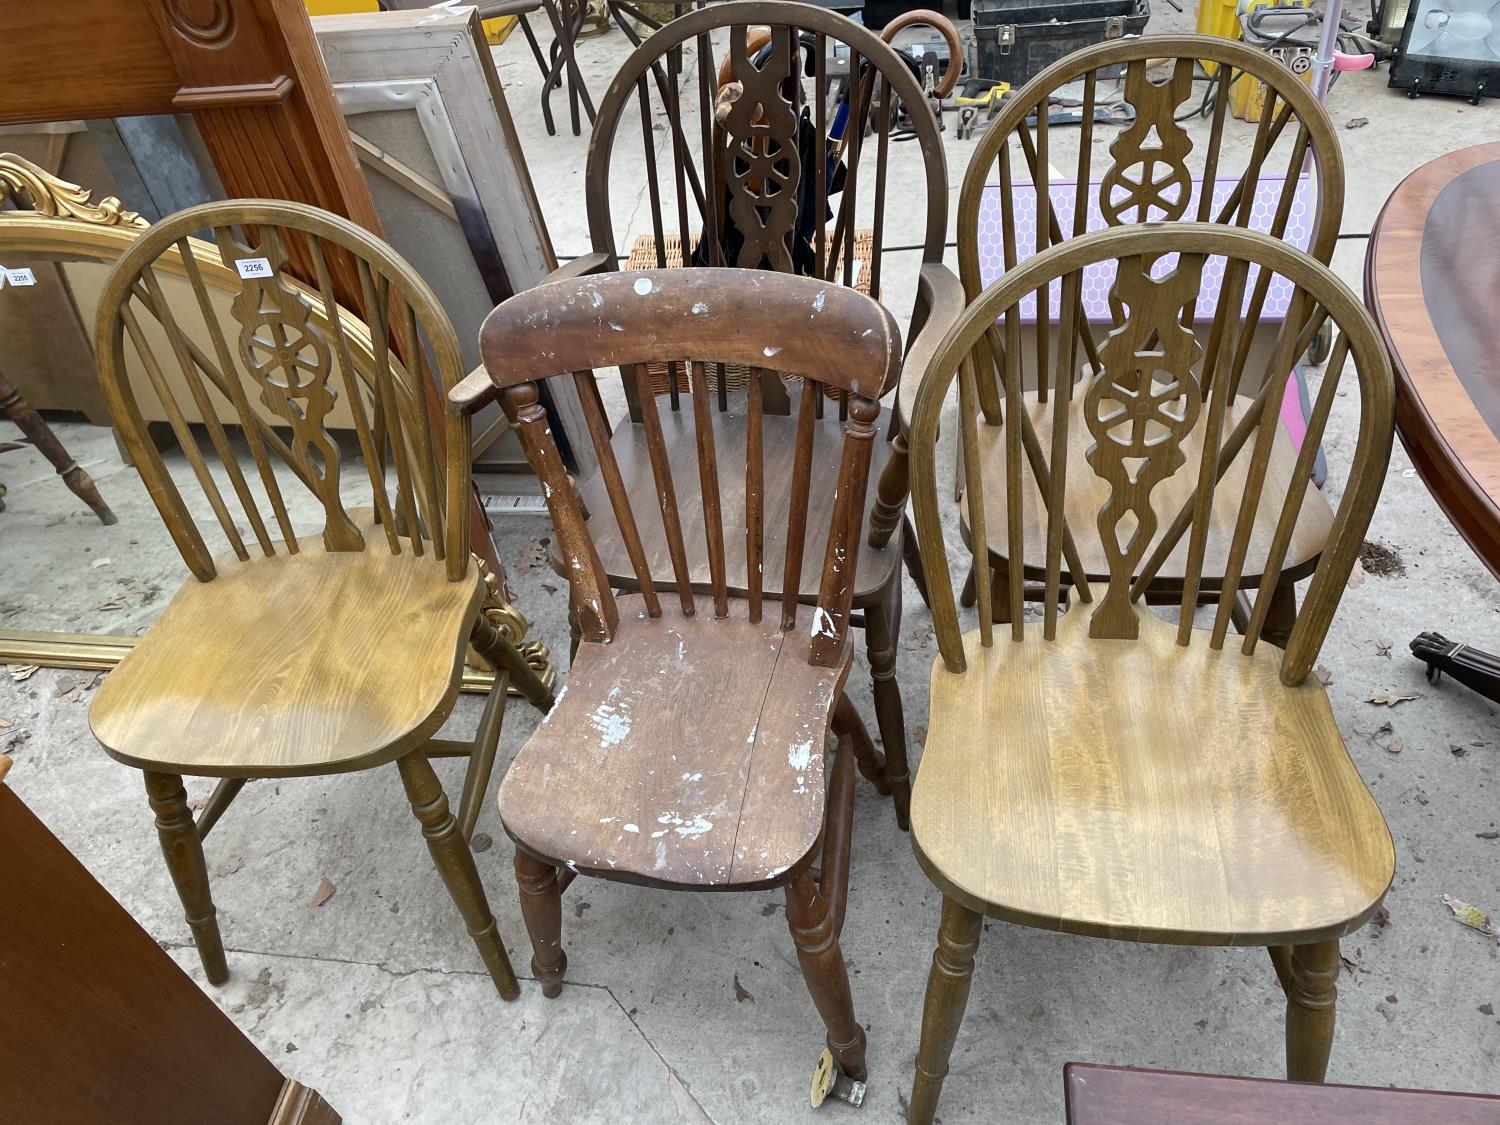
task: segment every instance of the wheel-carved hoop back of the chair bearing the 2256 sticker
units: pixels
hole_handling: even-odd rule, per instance
[[[204,260],[190,238],[196,232],[218,248],[218,261]],[[186,278],[195,306],[164,297],[166,272]],[[225,288],[236,291],[232,302],[224,300]],[[340,309],[345,294],[345,303],[358,303],[368,336],[350,338],[363,326]],[[207,351],[194,342],[204,339]],[[452,580],[466,573],[470,423],[442,410],[462,375],[458,338],[428,285],[380,238],[304,204],[212,202],[162,219],[110,273],[94,332],[110,412],[184,561],[208,580],[213,554],[147,434],[136,399],[146,388],[129,378],[128,348],[242,561],[250,548],[226,492],[252,546],[267,558],[279,549],[296,554],[282,492],[288,476],[316,500],[327,550],[364,549],[366,534],[346,510],[348,494],[363,484],[344,471],[327,424],[342,398],[387,548],[430,550],[446,560]],[[238,418],[252,472],[220,422],[225,404]]]

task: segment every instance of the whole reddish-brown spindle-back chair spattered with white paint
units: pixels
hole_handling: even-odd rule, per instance
[[[452,400],[472,411],[498,396],[518,426],[582,630],[567,690],[500,790],[543,992],[556,996],[562,987],[561,894],[579,873],[690,891],[783,886],[828,1050],[862,1082],[864,1030],[838,948],[855,759],[880,792],[888,778],[843,686],[874,422],[900,368],[896,322],[870,298],[814,278],[648,270],[512,297],[484,321],[480,351],[486,370],[459,384]],[[698,489],[672,471],[668,423],[645,387],[652,360],[688,368]],[[710,363],[752,370],[742,424],[720,418]],[[592,369],[615,364],[640,390],[648,494],[627,486],[600,405]],[[604,504],[638,594],[612,592],[600,513],[585,518],[537,405],[538,381],[560,368],[576,372]],[[800,381],[790,426],[765,408],[770,387],[788,393],[783,375]],[[818,442],[830,440],[816,417],[825,392],[837,394],[846,417],[832,480],[816,474]],[[774,458],[790,466],[782,495],[768,488]],[[826,502],[816,504],[820,489]],[[692,507],[688,496],[698,501]],[[666,560],[648,549],[648,536],[664,543]],[[698,537],[708,560],[705,594],[694,592],[688,573],[688,542]],[[736,549],[742,592],[730,562]],[[808,558],[813,566],[804,566]],[[783,584],[783,574],[794,578]],[[800,609],[778,591],[796,590],[807,574],[816,602]]]

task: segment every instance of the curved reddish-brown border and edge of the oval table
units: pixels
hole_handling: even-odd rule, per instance
[[[1450,368],[1446,369],[1444,375],[1438,376],[1456,384],[1450,394],[1446,396],[1448,402],[1430,404],[1422,394],[1422,381],[1413,378],[1398,346],[1396,336],[1402,334],[1408,345],[1418,342],[1430,352],[1442,357],[1443,364],[1448,363],[1448,352],[1443,348],[1443,342],[1426,318],[1420,290],[1420,256],[1396,264],[1406,268],[1390,268],[1384,273],[1388,282],[1390,278],[1401,278],[1406,280],[1406,285],[1396,291],[1388,286],[1384,294],[1380,291],[1382,266],[1384,266],[1382,250],[1386,246],[1383,236],[1388,234],[1384,226],[1392,208],[1412,207],[1413,200],[1408,196],[1420,190],[1431,190],[1432,200],[1436,200],[1443,188],[1458,178],[1458,176],[1491,160],[1500,160],[1500,142],[1478,144],[1440,156],[1413,170],[1396,184],[1380,208],[1380,214],[1370,232],[1370,244],[1365,250],[1365,306],[1370,309],[1386,351],[1390,356],[1390,366],[1396,382],[1396,430],[1401,435],[1401,446],[1412,458],[1413,466],[1422,477],[1424,484],[1426,484],[1428,492],[1437,501],[1437,506],[1443,510],[1443,514],[1448,516],[1454,528],[1473,548],[1490,572],[1500,578],[1500,476],[1496,478],[1494,492],[1486,489],[1444,436],[1438,426],[1438,417],[1434,417],[1434,410],[1449,423],[1466,422],[1480,426],[1486,432],[1490,426],[1479,416],[1478,408],[1468,398],[1467,388]],[[1426,212],[1424,210],[1424,220]],[[1418,237],[1416,244],[1420,248],[1420,237]],[[1392,332],[1383,304],[1383,300],[1392,298],[1410,302],[1413,310],[1420,309],[1420,336],[1414,338],[1410,332]],[[1424,381],[1431,384],[1432,376],[1430,375]],[[1432,390],[1431,386],[1428,388]],[[1497,446],[1500,446],[1500,440],[1497,440]]]

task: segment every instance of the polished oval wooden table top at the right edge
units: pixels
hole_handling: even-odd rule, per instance
[[[1396,429],[1460,534],[1500,576],[1500,142],[1412,172],[1365,255],[1396,375]]]

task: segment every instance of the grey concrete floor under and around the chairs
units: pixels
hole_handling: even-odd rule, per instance
[[[1170,16],[1170,18],[1162,18]],[[1154,32],[1186,22],[1162,8]],[[584,45],[596,94],[624,52],[618,32]],[[496,51],[560,255],[588,249],[582,212],[586,138],[548,138],[537,75],[518,38]],[[1384,72],[1348,75],[1329,110],[1350,170],[1344,231],[1368,232],[1396,182],[1422,162],[1500,136],[1497,110],[1384,88]],[[972,147],[945,134],[952,196]],[[624,172],[632,189],[639,178]],[[627,213],[633,202],[618,202]],[[1335,266],[1358,290],[1364,240]],[[896,262],[888,276],[898,274]],[[900,315],[909,294],[890,298]],[[1342,408],[1329,442],[1347,436]],[[1342,426],[1342,432],[1340,430]],[[140,632],[184,572],[141,489],[102,430],[58,432],[120,513],[100,528],[28,450],[0,454],[10,489],[0,516],[12,627]],[[0,426],[0,440],[12,436]],[[496,531],[518,604],[537,636],[566,652],[566,591],[526,568],[548,534],[540,518]],[[1389,918],[1346,942],[1340,1032],[1329,1078],[1347,1083],[1500,1089],[1500,945],[1458,926],[1442,894],[1500,909],[1500,736],[1496,711],[1464,688],[1431,687],[1406,642],[1440,628],[1500,650],[1500,586],[1448,525],[1400,446],[1371,538],[1404,564],[1347,591],[1323,650],[1329,694],[1350,752],[1396,840]],[[108,560],[102,566],[94,566]],[[123,604],[110,604],[112,594]],[[927,723],[934,656],[930,618],[908,586],[898,674],[912,753]],[[1389,652],[1382,645],[1390,642]],[[566,660],[564,660],[566,663]],[[99,752],[86,716],[92,676],[0,676],[0,750],[9,783],[100,882],[202,980],[156,850],[135,771]],[[82,690],[70,690],[70,688]],[[862,660],[850,676],[873,714]],[[1364,702],[1374,688],[1420,698]],[[470,729],[464,699],[452,728]],[[502,756],[537,718],[516,702]],[[1389,730],[1382,724],[1389,723]],[[873,724],[872,724],[873,726]],[[1395,742],[1404,748],[1392,753]],[[459,768],[441,765],[450,792]],[[194,796],[207,783],[190,786]],[[890,804],[861,784],[843,946],[868,1030],[862,1110],[820,1119],[902,1119],[910,1090],[922,987],[939,896],[912,860]],[[510,849],[492,807],[478,855],[518,968],[528,952]],[[579,882],[564,902],[568,984],[544,1000],[524,972],[504,1005],[434,878],[394,771],[250,786],[208,844],[232,980],[208,988],[286,1074],[320,1089],[346,1122],[614,1122],[812,1119],[807,1083],[822,1026],[796,969],[780,897],[688,896]],[[314,906],[321,879],[336,885]],[[1282,1000],[1264,952],[1088,940],[988,924],[940,1108],[944,1122],[1060,1122],[1071,1059],[1222,1074],[1281,1071]]]

